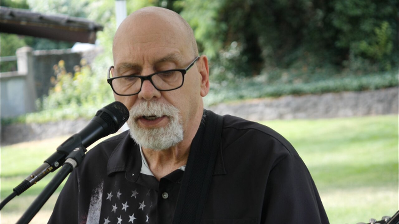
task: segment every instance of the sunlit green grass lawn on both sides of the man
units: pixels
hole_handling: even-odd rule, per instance
[[[399,209],[398,118],[390,115],[261,123],[280,132],[301,155],[330,223],[356,224],[393,215]],[[1,200],[66,138],[1,147]],[[9,202],[0,213],[1,223],[15,223],[49,180],[47,175]],[[47,222],[60,189],[31,223]]]

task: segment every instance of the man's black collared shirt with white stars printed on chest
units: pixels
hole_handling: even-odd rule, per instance
[[[141,166],[128,131],[103,141],[71,173],[49,223],[171,223],[184,171],[158,182]],[[328,218],[292,145],[266,126],[226,115],[202,223],[326,224]]]

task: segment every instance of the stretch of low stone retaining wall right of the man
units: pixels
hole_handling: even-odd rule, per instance
[[[399,113],[399,88],[320,95],[283,96],[218,104],[209,109],[248,120],[313,119]]]

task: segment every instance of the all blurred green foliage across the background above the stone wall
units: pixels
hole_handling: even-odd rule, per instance
[[[104,26],[97,43],[103,53],[79,72],[58,73],[58,84],[37,103],[45,112],[22,120],[87,116],[79,108],[112,101],[105,73],[112,65],[116,30],[113,1],[2,0],[1,5],[85,17]],[[126,6],[128,14],[144,6],[169,8],[190,23],[200,53],[211,62],[208,105],[398,85],[397,0],[127,0]],[[1,33],[1,41],[9,43],[1,45],[2,56],[14,55],[23,45],[34,49],[73,45],[6,33]],[[13,65],[2,65],[2,71],[8,67]],[[92,82],[93,88],[88,86]],[[65,105],[78,112],[69,113]]]

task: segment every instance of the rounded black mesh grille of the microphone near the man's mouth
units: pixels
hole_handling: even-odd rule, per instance
[[[111,134],[117,132],[128,120],[129,110],[121,102],[115,101],[97,111],[95,116],[100,116],[108,124]]]

